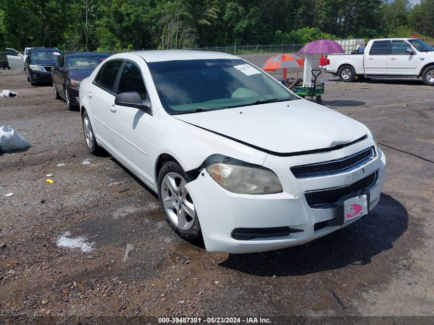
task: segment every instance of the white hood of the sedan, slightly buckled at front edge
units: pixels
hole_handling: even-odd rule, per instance
[[[178,114],[174,117],[271,154],[332,148],[366,135],[360,123],[307,100]]]

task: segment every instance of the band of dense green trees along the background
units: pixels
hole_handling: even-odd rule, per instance
[[[434,37],[434,0],[0,0],[8,47],[174,49]]]

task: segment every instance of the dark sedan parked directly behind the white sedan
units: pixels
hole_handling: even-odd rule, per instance
[[[60,56],[53,69],[53,89],[56,99],[64,99],[66,109],[78,108],[81,81],[108,58],[106,53],[80,52]]]

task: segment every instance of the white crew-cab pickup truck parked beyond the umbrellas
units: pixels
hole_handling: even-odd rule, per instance
[[[343,82],[362,78],[420,78],[434,86],[434,48],[417,39],[371,40],[360,54],[329,55],[327,72]]]

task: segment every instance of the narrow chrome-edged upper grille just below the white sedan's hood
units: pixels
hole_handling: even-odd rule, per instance
[[[333,175],[360,167],[373,158],[375,158],[375,150],[373,147],[370,147],[348,157],[308,165],[293,166],[290,170],[296,178]]]

